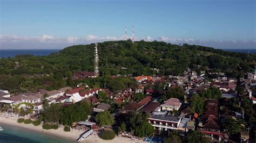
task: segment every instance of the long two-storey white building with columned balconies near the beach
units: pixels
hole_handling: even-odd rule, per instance
[[[178,130],[181,117],[169,115],[151,115],[147,118],[157,131]]]

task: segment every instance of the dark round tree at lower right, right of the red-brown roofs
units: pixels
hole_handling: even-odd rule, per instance
[[[224,128],[228,134],[237,134],[242,130],[242,124],[239,120],[228,118],[224,123]]]

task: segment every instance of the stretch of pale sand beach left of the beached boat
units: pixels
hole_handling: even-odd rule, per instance
[[[59,127],[57,130],[54,130],[54,129],[45,130],[42,128],[41,125],[34,126],[33,124],[18,123],[16,119],[3,118],[3,117],[0,117],[0,123],[6,124],[6,125],[12,125],[12,126],[19,126],[22,128],[26,128],[27,130],[30,130],[30,131],[44,133],[44,134],[52,135],[55,137],[72,140],[72,141],[76,141],[79,138],[79,135],[84,132],[84,131],[76,131],[72,129],[70,130],[70,132],[65,132],[63,131],[62,127]]]

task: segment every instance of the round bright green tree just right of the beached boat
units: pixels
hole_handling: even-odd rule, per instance
[[[113,125],[114,120],[109,111],[99,112],[95,117],[96,123],[102,127],[104,125]]]

